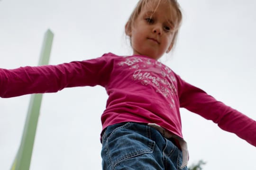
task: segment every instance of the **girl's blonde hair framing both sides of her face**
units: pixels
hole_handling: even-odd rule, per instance
[[[142,8],[144,8],[147,3],[151,1],[151,0],[139,0],[136,7],[134,8],[133,12],[131,13],[127,23],[126,23],[126,28],[125,28],[125,34],[129,36],[130,38],[130,31],[132,29],[132,26],[135,22],[135,20],[137,19],[138,15],[140,14]],[[158,0],[158,5],[160,4],[160,2],[163,0]],[[172,41],[172,47],[175,45],[176,41],[177,41],[177,35],[178,35],[178,31],[180,28],[180,25],[182,23],[182,12],[181,12],[181,8],[179,3],[177,2],[177,0],[165,0],[166,2],[169,3],[170,5],[170,10],[174,9],[173,14],[175,15],[175,32],[174,32],[174,37],[173,37],[173,41]],[[158,5],[156,6],[156,8],[158,7]],[[156,10],[156,9],[155,9]]]

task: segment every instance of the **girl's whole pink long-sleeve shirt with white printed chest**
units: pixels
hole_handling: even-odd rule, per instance
[[[0,69],[2,98],[85,85],[101,85],[109,95],[101,116],[103,129],[121,122],[155,123],[183,138],[179,111],[183,107],[256,146],[255,120],[216,101],[146,56],[108,53],[55,66]]]

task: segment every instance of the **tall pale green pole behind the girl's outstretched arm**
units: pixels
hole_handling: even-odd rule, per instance
[[[49,63],[53,37],[54,34],[48,29],[45,34],[38,65],[47,65]],[[31,95],[21,143],[11,170],[29,170],[42,97],[42,94]]]

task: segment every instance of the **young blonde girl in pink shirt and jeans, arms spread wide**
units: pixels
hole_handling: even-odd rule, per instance
[[[104,170],[186,170],[179,108],[218,123],[256,146],[256,121],[186,83],[157,60],[172,50],[182,14],[175,0],[140,0],[125,32],[132,56],[104,54],[57,66],[0,69],[0,97],[101,85],[109,95],[102,122]]]

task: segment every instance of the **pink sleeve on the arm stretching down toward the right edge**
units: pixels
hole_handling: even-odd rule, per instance
[[[178,76],[178,95],[180,107],[212,120],[218,126],[235,133],[248,143],[256,146],[256,121],[248,118],[238,110],[205,93],[200,88],[190,85]]]

